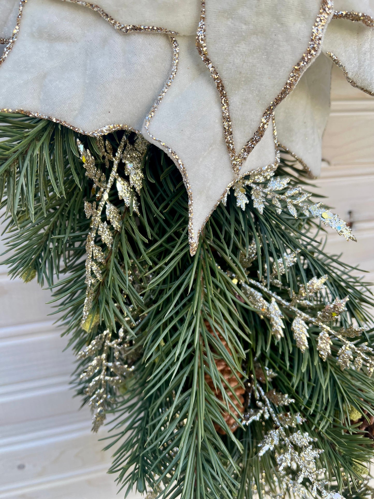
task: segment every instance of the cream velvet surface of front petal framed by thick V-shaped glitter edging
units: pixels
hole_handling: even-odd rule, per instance
[[[320,0],[205,0],[207,53],[229,101],[236,153],[309,46]]]

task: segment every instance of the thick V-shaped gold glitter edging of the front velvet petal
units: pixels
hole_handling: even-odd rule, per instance
[[[237,155],[235,152],[235,146],[232,137],[231,128],[231,118],[229,112],[229,102],[228,97],[217,70],[215,69],[210,57],[208,55],[206,42],[205,42],[205,1],[201,2],[201,16],[200,22],[197,30],[196,36],[196,47],[200,54],[200,57],[204,61],[205,65],[209,69],[210,75],[214,79],[219,97],[222,103],[222,121],[223,121],[223,132],[226,141],[226,147],[230,154],[232,168],[235,173],[240,171],[243,161],[252,152],[256,144],[262,139],[268,125],[269,121],[273,115],[274,109],[277,105],[285,98],[287,95],[295,88],[296,83],[301,78],[303,72],[307,69],[310,63],[314,60],[316,55],[318,55],[322,36],[325,27],[328,23],[329,17],[333,14],[333,2],[331,0],[323,0],[321,2],[320,13],[316,19],[316,22],[312,29],[312,35],[307,49],[305,50],[302,58],[293,67],[290,76],[288,77],[286,85],[283,87],[281,92],[277,95],[273,102],[265,110],[261,123],[254,133],[253,137],[244,145],[240,153]]]

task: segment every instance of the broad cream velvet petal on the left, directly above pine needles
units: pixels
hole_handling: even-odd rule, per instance
[[[57,118],[84,133],[140,129],[172,67],[168,35],[125,34],[98,13],[32,0],[0,66],[0,108]]]

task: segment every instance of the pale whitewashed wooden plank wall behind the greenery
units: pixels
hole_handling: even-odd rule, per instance
[[[331,233],[329,250],[344,251],[371,279],[373,137],[374,99],[334,69],[326,162],[316,184],[342,218],[351,212],[358,239],[347,243]],[[0,499],[114,499],[110,455],[100,452],[89,411],[79,410],[69,389],[73,356],[62,352],[66,340],[48,317],[48,292],[35,282],[10,281],[0,267],[0,298]]]

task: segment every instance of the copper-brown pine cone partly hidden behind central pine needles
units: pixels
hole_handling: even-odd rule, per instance
[[[209,322],[207,320],[205,320],[204,323],[205,323],[206,329],[209,331],[209,333],[213,334],[213,330],[210,327]],[[231,355],[231,352],[230,352],[230,349],[227,345],[227,342],[224,340],[224,338],[219,333],[218,333],[218,337],[221,340],[224,347],[226,348],[226,350],[228,351],[228,353]],[[236,393],[240,402],[238,402],[235,399],[235,397],[233,396],[233,394],[231,392],[229,392],[229,398],[232,401],[232,405],[230,404],[230,411],[233,414],[235,414],[236,417],[240,418],[241,415],[243,414],[243,411],[244,411],[244,397],[243,397],[243,395],[245,393],[245,389],[238,384],[236,376],[233,374],[231,368],[226,364],[226,362],[223,359],[215,359],[214,362],[215,362],[215,365],[217,366],[218,371],[222,374],[222,376],[225,380],[225,384],[227,386],[234,388],[234,392]],[[239,378],[242,378],[241,373],[238,372],[237,375]],[[213,381],[208,374],[205,374],[205,381],[206,381],[207,385],[211,388],[211,390],[213,392],[215,392]],[[224,386],[223,381],[222,381],[222,384]],[[219,400],[221,400],[223,402],[223,397],[222,397],[221,391],[219,389],[216,392],[216,396]],[[236,430],[236,428],[238,427],[235,419],[227,411],[223,412],[223,418],[226,421],[227,426],[231,429],[232,432],[234,432]],[[214,424],[214,428],[221,435],[226,434],[226,432],[216,423]]]

